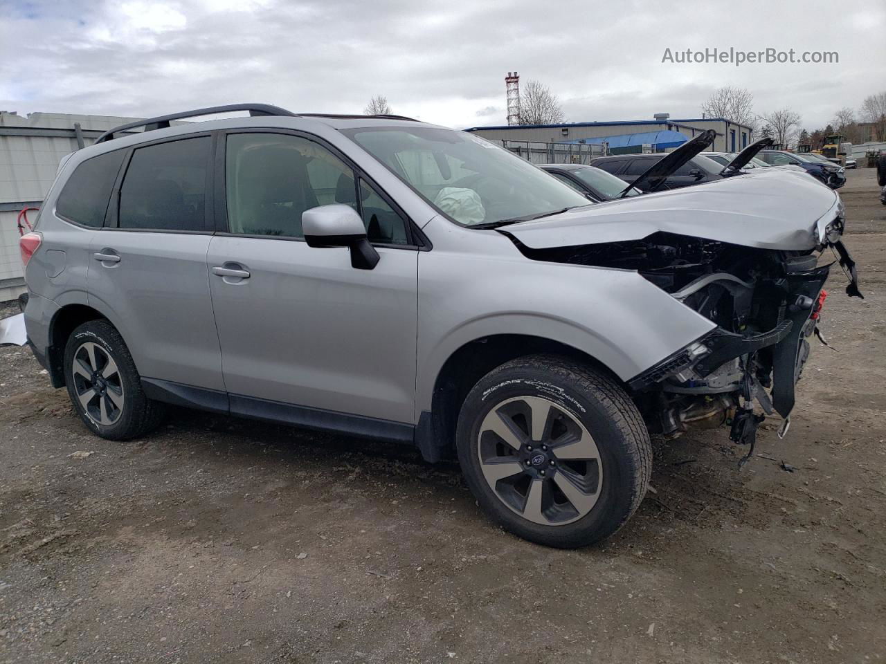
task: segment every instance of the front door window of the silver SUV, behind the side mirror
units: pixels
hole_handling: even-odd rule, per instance
[[[231,233],[303,237],[302,212],[331,203],[358,209],[354,172],[306,138],[231,134],[225,161]]]

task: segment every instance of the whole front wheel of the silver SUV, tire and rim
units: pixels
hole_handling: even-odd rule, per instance
[[[462,405],[456,444],[484,511],[525,539],[571,548],[618,530],[649,486],[649,432],[625,390],[553,356],[486,374]]]

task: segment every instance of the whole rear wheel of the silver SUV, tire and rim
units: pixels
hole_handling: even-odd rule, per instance
[[[74,410],[98,436],[126,440],[154,429],[163,406],[144,396],[123,337],[107,320],[89,320],[65,347],[65,382]]]

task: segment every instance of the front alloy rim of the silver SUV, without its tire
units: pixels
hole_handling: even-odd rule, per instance
[[[480,469],[495,495],[546,526],[577,521],[596,505],[602,464],[579,418],[547,398],[509,398],[480,423]]]

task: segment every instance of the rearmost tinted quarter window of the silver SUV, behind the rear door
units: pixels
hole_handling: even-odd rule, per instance
[[[58,195],[58,216],[82,226],[101,228],[125,153],[124,150],[106,152],[74,168],[74,173]]]

